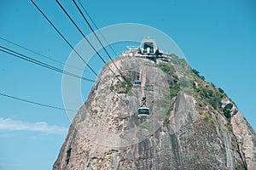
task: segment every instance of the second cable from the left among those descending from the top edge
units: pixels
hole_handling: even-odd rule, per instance
[[[80,32],[80,34],[84,37],[84,39],[89,43],[90,47],[93,48],[93,50],[96,52],[96,54],[100,57],[100,59],[102,59],[103,63],[105,65],[107,65],[107,62],[105,61],[105,59],[102,58],[102,55],[99,54],[96,50],[96,48],[92,45],[92,43],[89,41],[89,39],[87,37],[85,37],[83,31],[80,30],[79,26],[75,23],[75,21],[72,19],[72,17],[67,13],[66,9],[63,8],[63,6],[61,5],[61,3],[56,0],[56,3],[58,3],[58,5],[61,7],[62,11],[67,15],[67,18],[73,23],[73,26],[75,26],[78,31]],[[108,66],[108,69],[113,73],[113,75],[116,77],[115,73],[113,72],[113,70]]]

